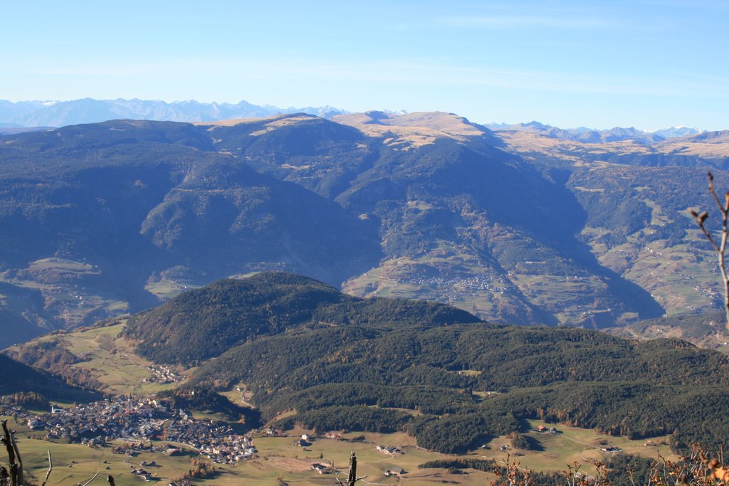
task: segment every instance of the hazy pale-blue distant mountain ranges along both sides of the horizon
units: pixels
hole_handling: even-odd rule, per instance
[[[217,122],[226,119],[271,117],[279,114],[305,113],[331,119],[348,111],[332,106],[278,108],[258,106],[247,101],[238,103],[200,103],[195,100],[94,100],[82,98],[71,101],[12,101],[0,100],[0,133],[26,131],[25,128],[63,127],[81,123],[106,122],[112,119],[149,119],[160,122]],[[402,112],[401,112],[402,113]],[[389,112],[389,114],[396,114]],[[678,126],[660,130],[637,130],[615,127],[609,130],[593,128],[555,128],[539,122],[486,123],[491,130],[516,130],[561,138],[565,140],[601,143],[620,140],[655,142],[671,137],[701,133],[696,128]]]

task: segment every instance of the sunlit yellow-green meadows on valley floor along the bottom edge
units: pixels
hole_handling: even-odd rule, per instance
[[[203,418],[203,417],[200,417]],[[205,416],[204,418],[207,418]],[[12,419],[11,419],[12,422]],[[537,428],[542,422],[529,420],[531,428]],[[139,485],[141,479],[130,474],[131,466],[139,466],[141,460],[147,462],[154,460],[160,466],[147,467],[147,471],[154,472],[160,477],[160,484],[166,484],[171,479],[180,477],[183,471],[190,469],[190,460],[198,457],[193,452],[182,457],[170,457],[160,453],[142,452],[135,458],[125,455],[113,454],[112,447],[92,449],[79,444],[62,444],[48,442],[42,439],[30,439],[29,436],[39,434],[29,431],[23,424],[12,423],[17,431],[20,450],[26,468],[33,474],[35,480],[42,479],[47,468],[46,455],[50,449],[54,460],[54,473],[52,484],[61,486],[76,485],[101,470],[101,474],[112,474],[117,484]],[[551,425],[550,425],[551,426]],[[652,442],[656,446],[646,447],[645,440],[629,440],[620,436],[596,434],[594,431],[555,426],[559,434],[539,433],[531,431],[527,436],[536,440],[543,450],[509,450],[512,460],[517,460],[521,467],[535,471],[562,471],[568,464],[574,462],[582,464],[582,471],[593,471],[592,463],[595,460],[606,460],[615,452],[603,452],[602,447],[608,444],[620,447],[629,454],[642,455],[655,458],[663,455],[674,460],[675,457],[668,450],[667,436],[655,437]],[[443,484],[453,482],[464,486],[488,484],[492,475],[483,471],[467,470],[467,474],[448,474],[443,469],[418,469],[422,463],[429,460],[443,458],[477,458],[484,460],[504,460],[507,452],[499,451],[499,446],[509,445],[510,439],[504,436],[495,437],[488,442],[488,449],[478,449],[467,455],[445,455],[417,447],[415,439],[406,434],[369,434],[351,432],[344,434],[345,441],[319,439],[308,447],[300,447],[295,441],[300,434],[312,433],[305,429],[289,431],[288,437],[259,437],[254,439],[258,458],[241,462],[235,466],[220,466],[220,474],[214,479],[195,480],[198,485],[234,486],[271,485],[276,484],[277,478],[282,478],[292,485],[331,485],[335,477],[345,477],[348,469],[349,454],[356,452],[358,474],[367,474],[367,482],[379,485],[395,485],[399,482],[413,485]],[[356,442],[351,439],[360,437]],[[378,444],[395,445],[404,454],[383,454],[376,450]],[[116,445],[116,444],[112,444]],[[74,462],[75,461],[75,462]],[[104,462],[106,461],[106,462]],[[331,463],[340,471],[338,476],[321,476],[308,468],[314,462]],[[408,471],[404,477],[397,479],[385,477],[384,471],[399,466]],[[106,469],[106,468],[109,469]],[[100,479],[97,479],[97,481]]]

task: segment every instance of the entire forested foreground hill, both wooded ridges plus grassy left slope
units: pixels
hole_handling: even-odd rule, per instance
[[[219,281],[120,321],[123,331],[99,324],[7,353],[26,363],[65,358],[59,372],[73,380],[83,368],[94,383],[106,365],[65,353],[117,360],[101,346],[136,350],[157,364],[198,365],[169,393],[220,400],[210,393],[240,388],[276,426],[405,431],[440,452],[526,431],[526,418],[632,439],[669,435],[674,450],[729,436],[729,357],[679,340],[487,324],[453,307],[357,299],[286,273]]]

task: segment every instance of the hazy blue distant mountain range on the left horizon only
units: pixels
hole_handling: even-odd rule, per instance
[[[240,103],[200,103],[195,100],[94,100],[72,101],[0,100],[0,130],[3,128],[65,127],[80,123],[105,122],[110,119],[152,119],[163,122],[213,122],[222,119],[261,118],[276,114],[306,113],[330,118],[345,111],[331,106],[313,108],[278,108]]]

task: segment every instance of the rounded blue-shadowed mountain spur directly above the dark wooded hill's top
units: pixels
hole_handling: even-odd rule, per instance
[[[338,284],[381,258],[370,222],[230,158],[192,168],[149,211],[141,235],[166,261],[195,262],[217,278],[276,262]]]

